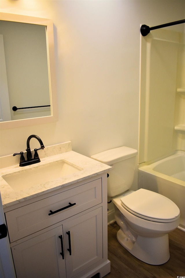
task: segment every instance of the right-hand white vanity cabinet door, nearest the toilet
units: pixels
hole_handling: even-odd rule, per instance
[[[63,225],[67,277],[73,277],[103,258],[102,208]]]

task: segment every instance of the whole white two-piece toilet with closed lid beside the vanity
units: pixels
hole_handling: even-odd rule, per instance
[[[117,240],[136,258],[159,265],[169,260],[168,233],[180,223],[180,210],[168,198],[149,191],[129,190],[134,179],[137,151],[119,147],[91,158],[112,166],[108,177],[108,197],[120,226]]]

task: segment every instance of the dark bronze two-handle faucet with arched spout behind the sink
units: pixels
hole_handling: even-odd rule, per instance
[[[30,139],[31,138],[36,138],[38,140],[38,142],[40,143],[40,148],[39,149],[34,149],[34,158],[32,158],[32,152],[30,150],[30,146],[29,146],[29,142],[30,142]],[[41,149],[44,149],[44,144],[42,143],[42,140],[40,139],[40,137],[38,137],[37,135],[30,135],[27,139],[27,149],[26,149],[26,152],[27,152],[27,160],[25,160],[25,157],[24,157],[24,153],[23,151],[21,151],[20,153],[14,153],[13,156],[16,156],[17,154],[20,154],[21,155],[21,158],[20,158],[20,163],[19,163],[19,166],[27,166],[27,165],[31,165],[31,164],[35,164],[35,163],[38,163],[40,162],[40,158],[38,156],[38,153],[37,151],[38,150],[41,150]]]

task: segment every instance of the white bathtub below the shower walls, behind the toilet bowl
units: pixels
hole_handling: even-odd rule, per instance
[[[180,209],[185,231],[185,152],[175,151],[160,160],[138,164],[138,189],[144,188],[171,199]]]

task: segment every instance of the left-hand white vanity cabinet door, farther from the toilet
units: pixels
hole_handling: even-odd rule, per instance
[[[12,247],[17,278],[66,278],[59,235],[62,225]]]

